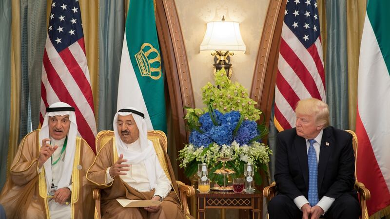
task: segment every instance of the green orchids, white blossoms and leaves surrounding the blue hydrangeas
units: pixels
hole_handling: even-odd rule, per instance
[[[187,114],[184,119],[187,121],[187,128],[190,131],[198,131],[203,133],[199,128],[199,117],[210,112],[210,118],[217,126],[216,114],[214,110],[221,113],[227,113],[232,110],[240,112],[241,117],[234,128],[235,135],[245,120],[257,121],[260,116],[263,118],[263,123],[257,126],[258,135],[254,137],[248,145],[238,145],[235,141],[231,145],[218,145],[215,142],[208,146],[195,146],[193,144],[186,145],[179,151],[178,159],[180,167],[184,168],[184,174],[187,178],[196,176],[197,168],[200,163],[206,163],[209,169],[208,176],[212,182],[223,185],[223,175],[215,174],[215,170],[222,168],[222,163],[218,162],[220,157],[229,157],[232,160],[225,163],[225,168],[234,170],[235,173],[229,177],[238,178],[244,177],[244,164],[252,164],[254,167],[254,183],[260,185],[262,183],[260,171],[267,173],[267,165],[270,161],[272,151],[268,146],[257,140],[264,138],[268,134],[268,129],[265,124],[265,116],[254,106],[257,104],[249,98],[248,91],[239,83],[233,83],[227,76],[224,69],[215,73],[215,84],[208,82],[202,88],[202,101],[207,106],[203,109],[185,108]],[[226,179],[228,177],[226,176]],[[228,182],[225,182],[228,183]]]

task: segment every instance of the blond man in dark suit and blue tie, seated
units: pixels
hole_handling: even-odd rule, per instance
[[[329,126],[328,105],[298,102],[295,128],[277,135],[270,219],[358,219],[352,135]]]

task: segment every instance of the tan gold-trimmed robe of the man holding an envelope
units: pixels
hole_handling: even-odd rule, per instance
[[[164,201],[160,204],[161,208],[157,213],[147,212],[143,208],[124,208],[117,199],[130,200],[150,200],[154,195],[154,190],[149,192],[138,192],[135,188],[123,182],[120,177],[116,176],[114,181],[105,185],[106,170],[114,165],[118,160],[117,147],[114,138],[107,142],[98,152],[94,164],[90,167],[87,173],[87,179],[92,183],[97,184],[101,190],[100,210],[102,219],[187,219],[181,209],[181,204],[178,198],[179,190],[176,184],[175,175],[172,171],[171,163],[168,155],[161,146],[153,142],[161,167],[174,191],[171,191]]]

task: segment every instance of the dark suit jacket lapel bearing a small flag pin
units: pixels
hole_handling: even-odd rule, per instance
[[[318,192],[321,190],[322,179],[324,178],[329,156],[331,155],[332,148],[334,147],[333,143],[334,141],[333,138],[331,137],[331,128],[325,128],[322,134],[322,140],[320,146],[320,157],[318,161],[318,178],[317,178]]]

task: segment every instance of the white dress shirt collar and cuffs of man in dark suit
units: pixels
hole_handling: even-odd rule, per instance
[[[317,157],[317,165],[320,157],[320,144],[322,140],[322,133],[324,130],[322,129],[320,133],[317,135],[317,137],[314,138],[315,142],[313,144],[315,155]],[[310,142],[309,139],[306,139],[306,150],[309,151]],[[334,198],[323,196],[320,201],[316,204],[317,206],[321,207],[322,210],[324,210],[324,214],[328,211],[328,209],[331,207],[332,203],[334,201]],[[309,203],[309,201],[305,198],[305,196],[298,196],[294,199],[295,205],[301,210],[302,206],[306,203]]]

